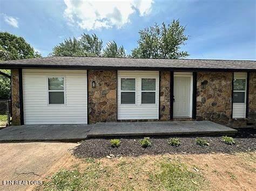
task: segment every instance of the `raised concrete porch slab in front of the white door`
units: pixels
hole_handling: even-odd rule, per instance
[[[159,136],[159,135],[227,135],[237,130],[210,121],[119,122],[97,123],[87,137]]]

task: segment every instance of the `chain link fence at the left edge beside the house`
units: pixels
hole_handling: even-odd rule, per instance
[[[10,100],[0,100],[0,129],[11,124]]]

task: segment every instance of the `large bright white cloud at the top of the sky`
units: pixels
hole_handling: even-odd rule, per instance
[[[82,29],[122,27],[129,23],[129,16],[136,10],[140,16],[150,13],[153,0],[64,0],[64,17],[69,24]]]

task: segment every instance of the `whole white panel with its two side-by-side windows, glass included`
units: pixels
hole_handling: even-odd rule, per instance
[[[158,119],[159,72],[119,70],[117,75],[117,119]]]

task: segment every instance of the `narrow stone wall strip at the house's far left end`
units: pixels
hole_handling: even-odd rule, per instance
[[[12,125],[21,125],[21,110],[19,107],[19,70],[11,70],[11,100]]]

